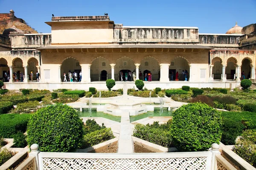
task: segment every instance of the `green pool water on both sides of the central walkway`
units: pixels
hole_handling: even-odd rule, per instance
[[[163,113],[160,115],[160,108],[154,108],[154,111],[148,111],[147,113],[140,114],[138,116],[130,116],[130,122],[134,122],[146,117],[151,116],[172,116],[172,111],[167,111],[167,108],[163,109]],[[90,117],[90,113],[88,109],[84,109],[83,112],[77,112],[80,117]],[[106,114],[103,112],[97,112],[95,108],[92,109],[92,117],[103,117],[106,119],[110,119],[116,122],[121,122],[121,116],[112,116],[110,114]]]

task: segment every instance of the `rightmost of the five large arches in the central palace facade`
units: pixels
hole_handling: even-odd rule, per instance
[[[182,74],[183,71],[188,72],[187,80],[189,80],[190,73],[188,60],[183,57],[175,57],[174,59],[172,59],[171,64],[169,66],[169,80],[171,80],[171,73],[173,72],[173,80],[178,79],[179,81],[184,81],[185,74]]]

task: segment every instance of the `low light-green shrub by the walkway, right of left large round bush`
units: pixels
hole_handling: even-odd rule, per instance
[[[83,137],[82,147],[87,148],[93,145],[113,139],[114,135],[111,128],[102,128],[93,132],[87,133]]]

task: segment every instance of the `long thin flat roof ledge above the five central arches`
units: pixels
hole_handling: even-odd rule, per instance
[[[36,48],[38,50],[43,49],[60,49],[60,48],[204,48],[204,49],[214,49],[211,47],[203,46],[203,45],[195,45],[195,44],[111,44],[111,45],[49,45],[46,47]]]

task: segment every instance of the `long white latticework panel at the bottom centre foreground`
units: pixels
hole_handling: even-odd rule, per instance
[[[161,159],[43,158],[44,170],[206,170],[207,157]]]

